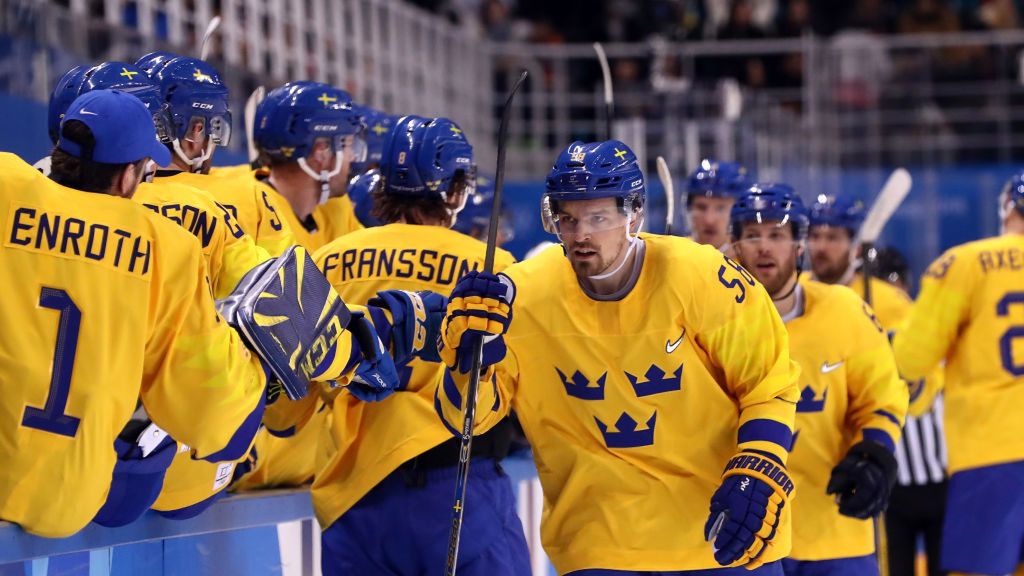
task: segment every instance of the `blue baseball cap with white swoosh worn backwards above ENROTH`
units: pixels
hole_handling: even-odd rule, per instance
[[[93,90],[75,98],[60,122],[78,120],[92,130],[92,150],[63,137],[57,148],[76,157],[102,164],[130,164],[152,158],[160,166],[171,163],[171,153],[157,138],[153,114],[142,100],[121,90]]]

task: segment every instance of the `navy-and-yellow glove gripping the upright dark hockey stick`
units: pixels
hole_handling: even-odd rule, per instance
[[[460,278],[441,323],[441,361],[452,370],[469,373],[474,343],[483,338],[481,368],[501,362],[506,352],[502,336],[512,323],[514,300],[515,284],[505,275],[470,272]]]

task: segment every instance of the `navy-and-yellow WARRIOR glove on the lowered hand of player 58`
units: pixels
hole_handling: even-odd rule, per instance
[[[711,497],[705,524],[715,561],[722,566],[738,561],[749,570],[764,564],[793,488],[785,466],[774,456],[755,451],[733,456]]]

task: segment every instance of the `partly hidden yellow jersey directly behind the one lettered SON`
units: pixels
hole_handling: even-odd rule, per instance
[[[285,220],[288,203],[275,203],[271,199],[273,189],[256,179],[253,174],[254,172],[229,172],[213,176],[180,172],[169,179],[188,183],[212,194],[234,216],[242,230],[253,237],[256,245],[270,255],[279,256],[292,246],[302,246]]]

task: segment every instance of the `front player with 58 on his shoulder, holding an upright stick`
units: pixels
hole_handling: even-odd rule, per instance
[[[515,410],[560,574],[781,574],[799,398],[785,328],[733,260],[638,234],[645,198],[629,147],[569,145],[543,200],[562,245],[459,281],[435,408],[458,434],[469,351],[490,336],[475,431]]]

